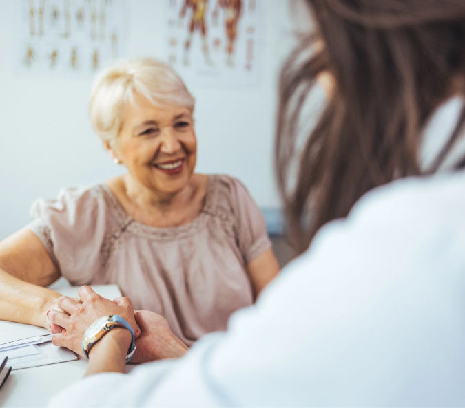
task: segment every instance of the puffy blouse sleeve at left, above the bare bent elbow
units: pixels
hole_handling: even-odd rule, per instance
[[[63,277],[76,285],[87,284],[101,268],[107,213],[98,186],[68,187],[56,200],[36,200],[27,228],[42,241]]]

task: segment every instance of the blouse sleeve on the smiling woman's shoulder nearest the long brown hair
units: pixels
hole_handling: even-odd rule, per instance
[[[236,218],[238,246],[247,264],[271,248],[267,223],[260,208],[245,186],[237,179],[228,177],[231,206]]]

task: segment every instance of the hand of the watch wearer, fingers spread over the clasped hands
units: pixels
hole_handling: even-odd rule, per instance
[[[63,296],[59,298],[57,305],[65,313],[57,310],[50,310],[48,313],[48,319],[54,325],[63,328],[61,333],[52,337],[54,345],[67,347],[83,356],[81,342],[85,330],[94,321],[109,314],[123,317],[132,326],[136,339],[140,336],[141,330],[134,319],[134,310],[129,299],[120,297],[110,301],[96,294],[90,286],[82,286],[78,293],[83,303],[76,303],[69,297]]]

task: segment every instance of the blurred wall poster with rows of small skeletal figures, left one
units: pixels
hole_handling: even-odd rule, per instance
[[[125,0],[18,0],[21,73],[93,74],[123,53]]]

